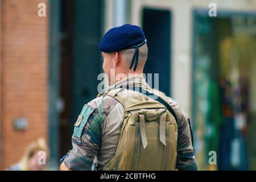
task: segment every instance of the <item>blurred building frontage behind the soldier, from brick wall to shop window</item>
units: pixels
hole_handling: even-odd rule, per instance
[[[38,4],[46,4],[46,17]],[[146,73],[191,118],[201,170],[256,170],[256,0],[1,0],[0,166],[47,141],[47,169],[71,148],[82,106],[97,96],[98,44],[143,28]],[[209,164],[210,151],[217,164]]]

